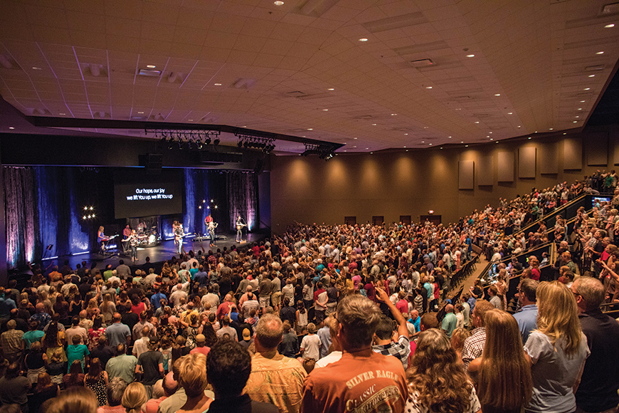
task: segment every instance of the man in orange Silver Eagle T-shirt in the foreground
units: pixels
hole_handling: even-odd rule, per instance
[[[303,412],[345,412],[351,403],[359,411],[405,412],[408,390],[402,363],[371,348],[380,317],[379,308],[363,296],[346,296],[339,302],[342,358],[309,373]]]

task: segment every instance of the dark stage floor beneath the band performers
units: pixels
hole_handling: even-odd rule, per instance
[[[243,249],[250,243],[259,242],[267,238],[267,234],[257,232],[257,233],[252,233],[252,234],[245,234],[244,240],[246,242],[237,243],[235,242],[235,236],[236,236],[236,232],[233,234],[218,234],[217,239],[216,239],[217,247],[216,248],[213,247],[212,249],[213,252],[216,252],[217,249],[221,249],[223,251],[224,246],[230,249],[230,247],[233,245],[236,245],[237,249]],[[201,247],[203,246],[205,252],[208,253],[208,250],[210,249],[208,247],[208,244],[209,242],[207,240],[203,242],[199,242],[199,241],[194,242],[193,239],[185,239],[183,246],[184,246],[185,252],[194,250],[195,253],[198,253],[198,251],[200,251]],[[163,261],[169,260],[172,256],[176,256],[176,257],[179,256],[176,249],[177,249],[177,246],[174,244],[174,240],[171,239],[169,241],[162,241],[162,244],[158,246],[152,246],[148,248],[138,248],[137,249],[137,260],[138,260],[137,263],[132,263],[130,252],[127,253],[127,255],[125,256],[122,253],[122,250],[120,249],[118,251],[116,249],[110,249],[110,252],[114,253],[114,255],[104,256],[104,255],[101,255],[100,253],[80,253],[78,255],[72,255],[72,256],[59,256],[57,258],[53,258],[52,260],[46,259],[46,260],[43,260],[43,264],[45,266],[48,266],[50,265],[50,261],[55,261],[56,265],[63,266],[65,260],[69,260],[69,266],[75,269],[75,265],[81,264],[82,261],[86,261],[89,267],[93,262],[96,262],[97,268],[101,270],[102,268],[105,268],[107,264],[112,264],[112,267],[115,268],[118,265],[118,261],[122,259],[123,261],[125,261],[125,264],[127,264],[128,266],[137,268],[137,267],[142,266],[144,263],[146,263],[146,257],[149,257],[150,262],[155,265],[156,271],[157,271],[163,265]]]

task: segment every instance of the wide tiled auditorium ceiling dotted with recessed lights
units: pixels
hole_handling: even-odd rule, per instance
[[[276,3],[2,0],[0,95],[74,132],[228,125],[371,152],[580,130],[619,60],[612,0]]]

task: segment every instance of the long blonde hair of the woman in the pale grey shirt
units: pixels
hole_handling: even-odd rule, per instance
[[[552,345],[561,338],[568,357],[578,352],[583,330],[578,320],[578,306],[572,291],[559,281],[539,283],[537,296],[537,331],[547,335]]]

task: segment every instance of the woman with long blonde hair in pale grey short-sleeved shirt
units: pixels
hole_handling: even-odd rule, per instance
[[[574,412],[574,393],[590,354],[574,293],[559,281],[544,281],[536,296],[537,330],[524,345],[533,377],[533,397],[526,412]]]

